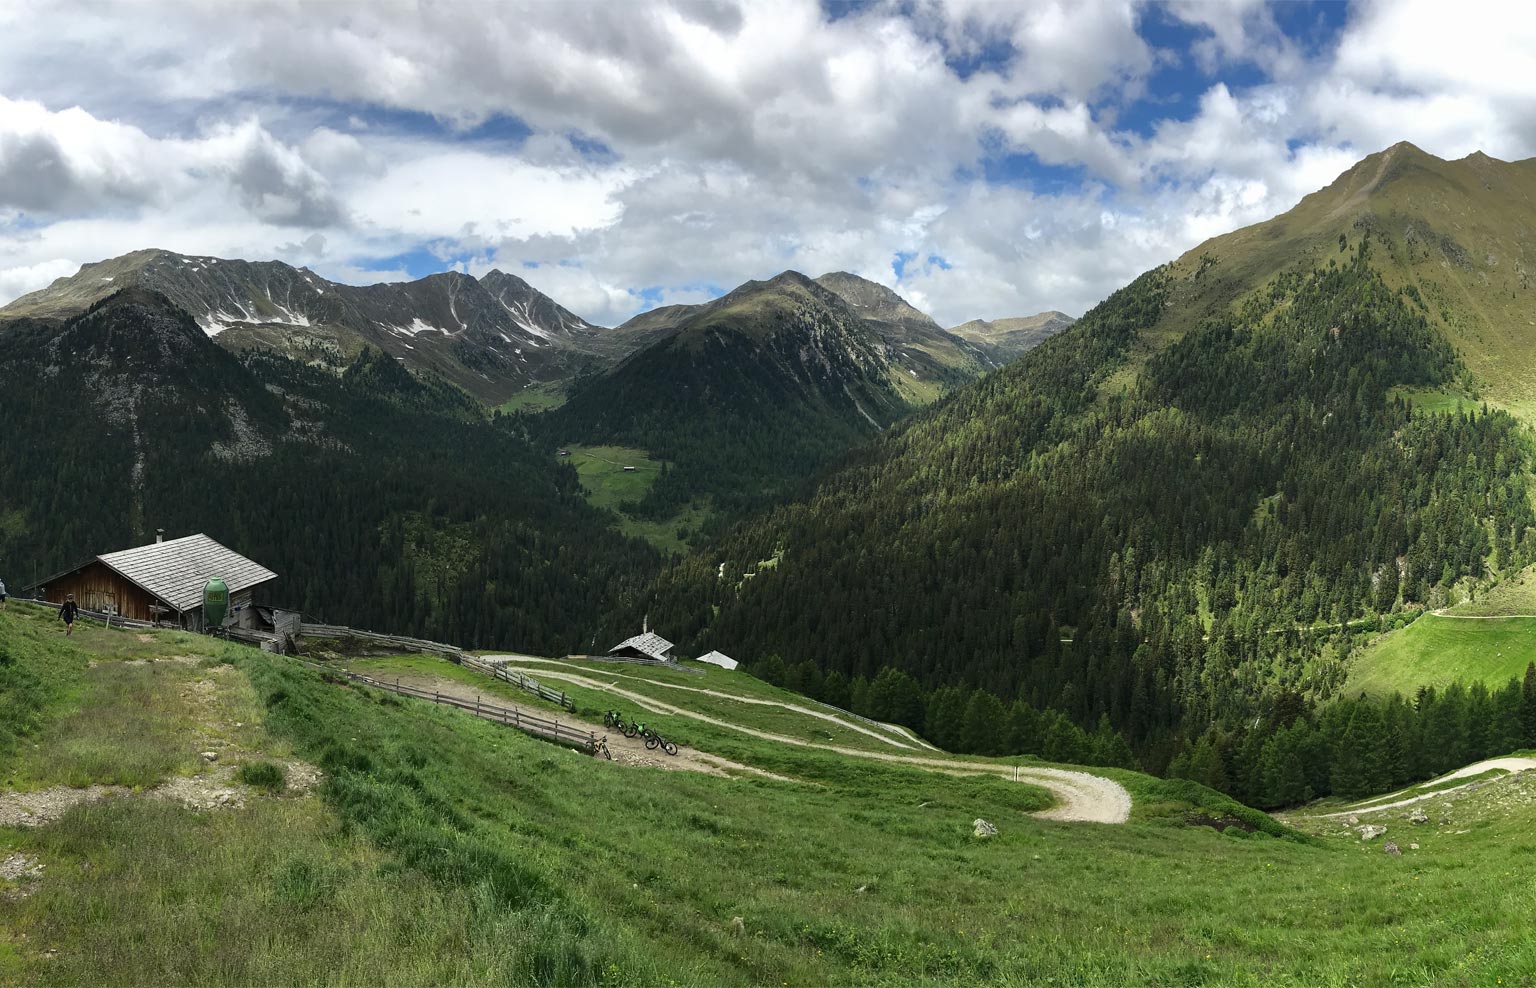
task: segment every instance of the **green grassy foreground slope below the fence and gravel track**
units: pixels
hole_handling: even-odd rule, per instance
[[[103,658],[101,642],[60,644],[15,610],[0,616],[0,641],[65,678]],[[270,744],[327,768],[324,797],[253,796],[201,814],[129,797],[0,830],[0,854],[48,865],[29,897],[0,897],[0,982],[1536,977],[1521,933],[1536,903],[1507,874],[1508,854],[1528,848],[1530,807],[1401,860],[1341,839],[1183,827],[1177,787],[1134,773],[1132,824],[1046,824],[1020,814],[1032,805],[1025,787],[895,767],[845,764],[793,785],[594,765],[281,659],[198,645],[235,662]],[[61,714],[49,708],[43,730]],[[816,759],[800,768],[819,774]],[[972,839],[975,816],[1001,836]]]

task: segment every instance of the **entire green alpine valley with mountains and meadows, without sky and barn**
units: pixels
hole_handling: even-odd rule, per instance
[[[1531,983],[1533,266],[1407,143],[1075,320],[86,264],[11,593],[204,532],[303,655],[0,610],[0,985]]]

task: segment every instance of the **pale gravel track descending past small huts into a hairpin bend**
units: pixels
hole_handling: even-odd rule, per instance
[[[957,776],[980,776],[992,774],[1001,776],[1005,779],[1012,779],[1017,782],[1028,782],[1031,785],[1038,785],[1048,790],[1060,802],[1034,816],[1046,821],[1071,821],[1084,824],[1124,824],[1130,819],[1130,793],[1126,791],[1123,785],[1101,776],[1094,776],[1086,771],[1069,771],[1066,768],[1044,768],[1044,767],[1012,767],[1012,765],[983,765],[980,762],[958,762],[952,759],[940,758],[923,758],[915,754],[891,754],[885,751],[865,751],[862,748],[845,748],[842,745],[817,744],[811,741],[802,741],[799,738],[786,738],[785,734],[774,734],[770,731],[759,731],[750,727],[742,727],[739,724],[730,724],[717,718],[711,718],[702,713],[694,713],[691,710],[684,710],[682,707],[674,707],[665,701],[645,696],[642,693],[633,693],[624,690],[617,682],[602,682],[599,679],[591,679],[588,676],[581,676],[576,673],[554,670],[554,668],[519,668],[515,662],[507,662],[507,668],[513,671],[521,671],[528,676],[536,676],[542,679],[561,679],[576,685],[587,687],[590,690],[599,690],[602,693],[611,693],[613,696],[622,696],[631,704],[650,710],[651,713],[673,714],[680,718],[693,718],[694,721],[702,721],[705,724],[713,724],[716,727],[723,727],[742,734],[750,734],[753,738],[762,738],[765,741],[777,741],[779,744],[799,745],[802,748],[817,748],[820,751],[836,751],[837,754],[846,754],[849,758],[868,758],[880,762],[900,762],[905,765],[919,765],[923,768],[932,768],[935,771],[943,771]],[[736,698],[733,698],[736,699]]]

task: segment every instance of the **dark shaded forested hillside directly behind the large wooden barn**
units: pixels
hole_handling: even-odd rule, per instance
[[[9,326],[0,421],[12,592],[155,529],[206,532],[278,572],[280,605],[567,651],[656,565],[570,467],[458,389],[375,350],[339,378],[237,358],[141,289]]]

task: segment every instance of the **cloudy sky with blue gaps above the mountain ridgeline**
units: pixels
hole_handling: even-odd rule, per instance
[[[1533,78],[1514,3],[0,0],[0,303],[166,247],[1080,315],[1401,140],[1536,155]]]

